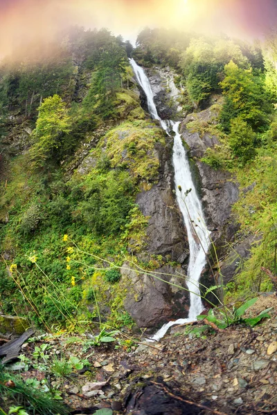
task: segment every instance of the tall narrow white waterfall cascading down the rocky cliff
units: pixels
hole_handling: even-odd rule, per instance
[[[143,68],[137,65],[134,59],[129,59],[136,79],[145,92],[148,100],[148,109],[151,116],[161,122],[161,127],[170,135],[170,126],[175,132],[173,145],[172,163],[175,170],[175,192],[179,208],[184,218],[186,230],[188,233],[188,245],[190,248],[190,259],[188,263],[188,290],[190,291],[190,311],[188,318],[179,319],[175,322],[164,324],[161,329],[151,337],[152,340],[159,341],[166,334],[169,327],[174,324],[184,324],[196,320],[197,315],[203,311],[203,304],[199,291],[199,278],[206,264],[206,253],[210,245],[209,234],[204,220],[201,202],[197,196],[193,178],[190,173],[190,166],[186,150],[181,142],[179,133],[180,122],[164,121],[159,117],[157,107],[154,104],[154,95],[150,86],[148,77],[145,75]]]

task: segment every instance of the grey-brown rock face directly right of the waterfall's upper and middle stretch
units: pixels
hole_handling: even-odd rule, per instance
[[[215,170],[199,160],[204,156],[208,147],[220,144],[217,136],[205,132],[209,124],[215,123],[216,116],[217,111],[211,108],[190,114],[181,123],[181,133],[189,147],[189,155],[195,160],[199,174],[199,192],[208,229],[213,231],[212,236],[218,254],[222,255],[223,247],[227,242],[232,241],[239,228],[231,212],[233,204],[238,201],[239,186],[229,172]],[[197,122],[197,124],[191,128],[190,122]]]

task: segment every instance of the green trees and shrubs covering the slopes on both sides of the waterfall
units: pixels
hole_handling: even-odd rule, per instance
[[[108,30],[73,28],[44,46],[0,66],[1,311],[47,329],[134,324],[120,267],[145,249],[149,218],[136,195],[157,183],[166,136],[141,108],[130,56],[175,71],[183,109],[194,111],[186,128],[219,142],[202,161],[228,169],[242,188],[254,183],[234,209],[258,243],[229,295],[271,289],[276,35],[260,46],[145,28],[132,48]],[[208,122],[197,117],[206,107]],[[159,262],[145,259],[150,269]]]

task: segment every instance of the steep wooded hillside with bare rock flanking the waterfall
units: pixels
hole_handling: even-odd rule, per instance
[[[117,346],[133,350],[133,338],[189,313],[191,252],[175,190],[174,133],[150,116],[128,57],[148,75],[159,118],[180,122],[211,235],[199,288],[206,313],[276,291],[276,45],[274,35],[260,45],[145,29],[133,48],[106,29],[73,28],[52,44],[3,59],[1,315],[24,317],[42,333],[73,333],[76,344],[119,331],[129,340]],[[191,189],[182,191],[186,200]],[[267,342],[275,324],[270,313],[260,319],[271,316]],[[233,323],[217,324],[226,333],[214,327],[212,335],[228,344]],[[249,329],[235,327],[234,344],[243,330]],[[7,329],[0,332],[8,337]],[[192,350],[206,335],[199,338]],[[184,348],[180,339],[174,350]],[[140,364],[133,355],[132,365]],[[40,377],[46,369],[36,370]],[[215,410],[231,398],[220,399]],[[256,410],[247,405],[237,413]]]

